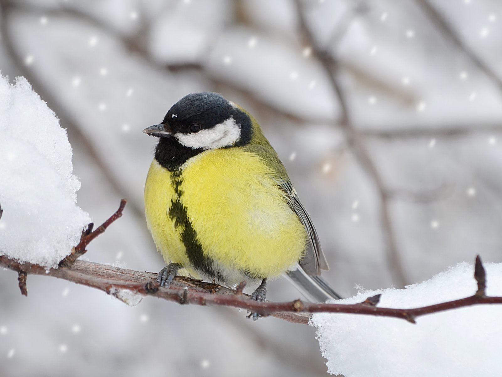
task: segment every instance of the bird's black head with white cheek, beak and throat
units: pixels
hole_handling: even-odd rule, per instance
[[[207,149],[242,146],[251,140],[249,116],[219,93],[192,93],[143,132],[159,137],[155,158],[173,170]]]

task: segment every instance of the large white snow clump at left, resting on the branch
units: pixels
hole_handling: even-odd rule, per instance
[[[90,222],[66,130],[24,77],[0,76],[0,254],[55,267]]]

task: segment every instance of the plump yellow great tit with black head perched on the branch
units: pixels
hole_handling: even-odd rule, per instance
[[[144,200],[167,263],[160,286],[184,269],[258,285],[251,298],[265,301],[267,279],[286,274],[311,301],[340,298],[320,277],[329,267],[312,220],[251,114],[219,93],[191,93],[143,132],[159,139]]]

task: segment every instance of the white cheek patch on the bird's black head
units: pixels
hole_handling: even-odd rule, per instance
[[[217,149],[233,145],[240,138],[240,127],[233,117],[194,134],[177,133],[174,135],[180,144],[192,149]]]

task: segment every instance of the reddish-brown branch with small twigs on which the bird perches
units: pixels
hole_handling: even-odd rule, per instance
[[[18,262],[6,255],[0,255],[0,266],[10,268],[19,273],[19,287],[23,295],[27,295],[26,278],[28,274],[49,275],[59,277],[77,284],[97,288],[113,295],[130,305],[138,304],[145,296],[153,296],[179,304],[201,306],[228,306],[261,313],[263,316],[274,316],[294,323],[308,324],[311,313],[351,313],[382,317],[402,318],[415,323],[417,317],[478,304],[502,304],[502,297],[486,296],[486,277],[481,259],[476,257],[474,278],[477,281],[477,291],[474,295],[458,300],[413,308],[396,309],[380,308],[378,303],[381,295],[367,298],[356,304],[315,304],[301,300],[292,302],[256,302],[242,293],[244,284],[236,290],[222,287],[218,284],[177,276],[170,288],[159,287],[157,274],[122,269],[114,266],[77,260],[86,252],[86,246],[121,215],[126,201],[122,200],[118,210],[101,226],[92,231],[92,224],[82,232],[80,242],[65,257],[58,268],[50,268],[33,263]]]

